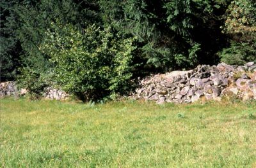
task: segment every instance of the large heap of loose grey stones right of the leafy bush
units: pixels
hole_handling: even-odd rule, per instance
[[[235,95],[243,100],[256,99],[256,64],[244,66],[198,66],[190,71],[155,74],[140,81],[134,99],[164,102],[195,102],[205,97],[220,100]]]

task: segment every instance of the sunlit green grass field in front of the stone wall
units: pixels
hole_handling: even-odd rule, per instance
[[[256,102],[0,102],[1,167],[256,167]]]

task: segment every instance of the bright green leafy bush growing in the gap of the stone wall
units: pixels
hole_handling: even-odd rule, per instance
[[[118,39],[110,29],[51,24],[40,50],[51,57],[56,82],[82,99],[97,99],[129,88],[134,39]]]

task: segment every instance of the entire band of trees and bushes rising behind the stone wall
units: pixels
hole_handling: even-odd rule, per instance
[[[1,80],[33,95],[129,92],[133,79],[256,60],[254,0],[2,0]]]

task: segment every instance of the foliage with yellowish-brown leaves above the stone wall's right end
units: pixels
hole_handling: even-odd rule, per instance
[[[256,3],[251,0],[232,1],[227,10],[224,31],[230,46],[220,53],[221,61],[244,64],[256,61]]]

